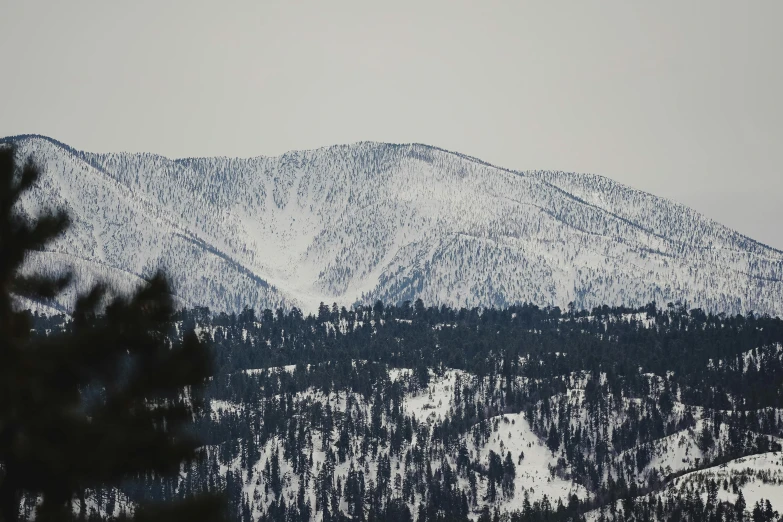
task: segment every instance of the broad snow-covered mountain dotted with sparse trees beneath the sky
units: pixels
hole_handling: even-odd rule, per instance
[[[162,266],[184,304],[218,310],[420,297],[783,315],[783,252],[600,176],[417,144],[170,160],[7,140],[44,167],[24,210],[73,218],[28,267],[70,266],[81,285],[126,289]]]

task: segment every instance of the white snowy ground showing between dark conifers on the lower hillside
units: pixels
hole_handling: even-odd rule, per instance
[[[285,367],[269,370],[271,373],[280,371],[290,373],[293,369]],[[252,373],[261,371],[256,370]],[[455,399],[455,387],[459,388],[460,385],[465,385],[463,390],[471,388],[473,390],[471,393],[478,392],[489,403],[492,402],[492,396],[497,398],[502,395],[502,383],[497,382],[493,388],[489,386],[488,379],[478,379],[477,376],[462,370],[443,368],[438,373],[430,370],[430,379],[426,387],[416,390],[409,389],[411,381],[415,380],[412,369],[389,368],[388,374],[392,382],[401,383],[403,388],[408,390],[400,405],[403,415],[409,419],[416,419],[422,425],[426,425],[428,429],[434,429],[445,420],[453,418],[455,408],[460,407],[459,400]],[[523,377],[520,379],[525,380]],[[479,385],[479,383],[482,384]],[[623,423],[630,417],[635,417],[633,410],[641,407],[643,401],[623,399],[614,402],[611,396],[607,396],[609,403],[613,405],[603,420],[596,421],[595,416],[589,413],[589,406],[585,403],[583,394],[580,393],[580,388],[584,386],[584,383],[584,377],[577,378],[575,375],[568,385],[566,393],[551,399],[551,411],[560,411],[565,414],[567,423],[572,428],[582,430],[583,433],[587,433],[584,428],[588,427],[589,437],[600,436],[606,441],[611,441],[613,440],[613,432],[621,429]],[[277,395],[271,400],[281,399],[282,396]],[[564,404],[570,406],[559,407],[558,403],[561,399],[565,401]],[[430,438],[426,435],[430,432],[416,430],[409,442],[404,440],[401,442],[401,447],[397,452],[386,443],[380,444],[373,450],[368,449],[368,445],[372,445],[369,429],[367,431],[359,430],[360,434],[347,439],[348,447],[344,452],[344,457],[336,459],[335,452],[339,455],[339,450],[336,449],[337,441],[340,439],[342,427],[346,423],[350,423],[363,424],[369,428],[369,424],[371,424],[369,419],[377,406],[374,404],[374,400],[362,397],[358,393],[345,391],[324,393],[315,388],[299,392],[293,395],[291,400],[299,405],[320,403],[322,408],[319,411],[328,411],[329,417],[335,419],[333,427],[325,432],[308,421],[306,415],[298,416],[300,422],[304,422],[301,429],[306,435],[303,438],[309,441],[302,449],[303,455],[307,457],[304,468],[294,471],[292,462],[282,457],[286,437],[280,435],[265,441],[263,447],[258,449],[257,454],[250,452],[256,455],[253,459],[248,458],[243,463],[243,458],[239,456],[242,453],[240,451],[230,463],[221,465],[221,476],[225,476],[231,471],[234,476],[243,477],[243,492],[246,498],[250,499],[250,508],[256,517],[266,512],[276,499],[275,494],[270,491],[268,486],[270,460],[276,458],[275,455],[281,455],[279,472],[282,481],[281,496],[286,499],[289,505],[296,498],[300,487],[304,489],[305,498],[309,499],[310,504],[316,505],[316,481],[314,479],[308,480],[307,477],[319,476],[324,466],[329,466],[329,474],[334,483],[346,484],[350,472],[357,470],[364,473],[365,480],[369,484],[371,481],[378,483],[381,480],[379,479],[379,469],[381,469],[384,459],[387,459],[390,479],[395,484],[402,484],[402,478],[412,476],[419,469],[415,460],[411,462],[410,459],[411,454],[419,452],[422,452],[425,458],[423,463],[418,466],[426,466],[427,469],[436,473],[438,470],[448,469],[448,471],[442,472],[455,475],[459,490],[468,493],[470,513],[474,519],[478,517],[485,506],[492,509],[497,508],[503,513],[520,511],[523,510],[526,503],[540,501],[549,502],[555,506],[559,502],[564,505],[568,504],[572,497],[576,497],[580,501],[597,500],[596,492],[588,490],[571,474],[573,460],[565,460],[567,453],[563,451],[562,446],[552,451],[547,447],[544,435],[535,431],[536,424],[541,426],[540,419],[537,423],[525,412],[490,415],[472,425],[466,433],[461,434],[454,445],[455,447],[446,447],[440,442],[435,442],[435,437]],[[258,405],[232,404],[222,400],[213,400],[211,406],[215,420],[222,418],[226,412],[237,413],[243,409],[260,408]],[[686,409],[688,408],[680,403],[675,404],[672,419],[682,417]],[[379,411],[381,410],[382,408],[379,409]],[[536,409],[533,411],[535,412]],[[540,408],[537,411],[540,412]],[[701,408],[690,408],[689,411],[692,411],[697,417],[693,427],[679,429],[672,435],[654,439],[651,442],[634,444],[633,447],[622,452],[610,449],[606,457],[600,459],[605,466],[602,480],[606,480],[610,475],[617,478],[620,476],[620,471],[624,470],[622,471],[624,479],[628,482],[634,482],[638,486],[646,487],[652,483],[651,481],[655,481],[657,485],[648,494],[648,497],[664,500],[671,495],[680,495],[684,498],[687,491],[702,495],[706,500],[707,482],[714,480],[720,487],[717,493],[718,500],[736,502],[738,492],[742,490],[749,506],[757,501],[770,499],[774,509],[783,511],[781,504],[783,496],[780,495],[780,492],[783,491],[783,470],[781,470],[783,454],[766,452],[699,469],[700,462],[705,463],[707,458],[712,461],[722,454],[729,435],[727,427],[724,425],[716,437],[715,447],[703,452],[697,447],[695,434],[703,428],[705,421],[701,417],[706,417],[707,412]],[[533,417],[535,416],[534,413]],[[388,413],[380,413],[379,418],[381,425],[385,426],[387,430],[391,432],[394,429],[394,423],[390,420]],[[425,434],[424,437],[421,436],[422,433]],[[288,438],[290,442],[292,438],[290,428]],[[588,443],[587,446],[590,444]],[[594,455],[587,446],[583,457],[591,460]],[[625,462],[627,462],[629,454],[635,455],[639,448],[650,446],[652,447],[652,458],[644,469],[639,469],[637,472],[636,468],[626,467]],[[473,471],[468,472],[465,468],[460,470],[457,447],[465,448],[467,458],[471,463],[470,469]],[[220,452],[220,447],[209,447],[206,451],[213,454],[214,457],[217,452]],[[501,458],[510,455],[515,465],[513,489],[508,493],[498,493],[494,501],[489,498],[488,479],[483,472],[479,471],[489,468],[492,452]],[[329,464],[329,454],[331,454],[331,464]],[[561,468],[562,465],[565,467]],[[653,470],[656,473],[651,473]],[[672,475],[672,473],[677,473],[680,476]],[[476,480],[473,490],[470,475],[473,475]],[[662,480],[665,482],[661,482]],[[395,486],[395,496],[400,495],[398,489]],[[409,495],[403,495],[403,498],[411,512],[415,512],[416,507],[423,500],[421,492],[415,488]],[[347,509],[345,498],[341,497],[340,501],[341,509],[345,511]],[[588,520],[598,520],[600,512],[600,510],[596,510],[588,513]],[[315,515],[315,520],[321,520],[320,514]]]

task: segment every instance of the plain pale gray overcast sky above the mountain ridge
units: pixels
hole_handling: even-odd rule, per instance
[[[781,20],[778,0],[7,1],[0,135],[423,142],[609,176],[783,248]]]

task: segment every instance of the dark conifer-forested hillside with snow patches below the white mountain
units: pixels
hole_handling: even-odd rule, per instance
[[[70,328],[33,315],[38,335]],[[96,320],[100,320],[97,318]],[[778,520],[783,322],[658,308],[183,310],[218,370],[178,477],[237,520]],[[34,499],[28,499],[32,509]]]

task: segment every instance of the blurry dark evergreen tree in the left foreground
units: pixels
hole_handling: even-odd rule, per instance
[[[20,196],[39,170],[16,157],[0,145],[0,520],[18,519],[23,495],[39,498],[36,520],[69,520],[74,512],[84,519],[86,490],[176,473],[195,458],[198,442],[186,430],[201,407],[198,386],[210,374],[210,357],[192,332],[182,343],[168,340],[174,303],[161,274],[130,297],[97,285],[77,298],[65,333],[30,335],[29,312],[15,311],[14,300],[45,302],[69,277],[20,269],[69,220],[22,215]],[[134,516],[217,520],[222,509],[211,496],[139,507]]]

